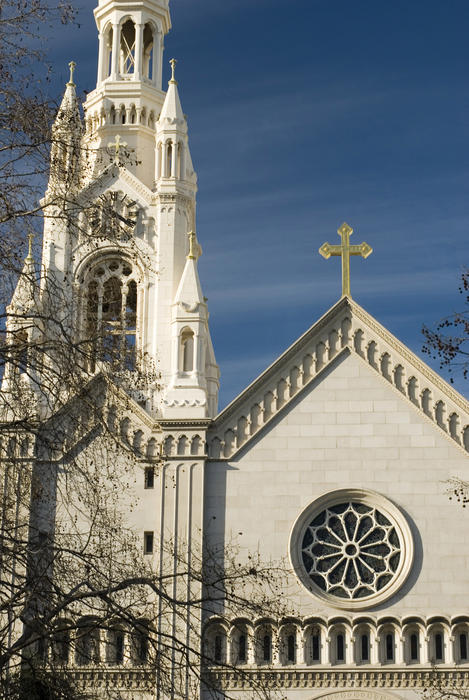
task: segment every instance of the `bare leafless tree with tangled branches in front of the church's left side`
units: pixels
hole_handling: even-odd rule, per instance
[[[285,569],[240,557],[236,543],[192,545],[189,565],[169,544],[160,556],[172,565],[155,574],[127,514],[136,470],[157,472],[164,459],[133,437],[129,394],[155,384],[157,369],[142,357],[129,368],[92,310],[78,337],[61,280],[37,270],[31,248],[23,262],[44,215],[76,235],[86,235],[77,214],[89,206],[92,216],[77,196],[76,164],[86,170],[89,155],[77,112],[57,115],[36,48],[45,24],[73,18],[48,0],[0,8],[0,698],[75,700],[100,684],[128,697],[100,673],[124,661],[142,687],[190,697],[190,683],[211,683],[205,617],[282,615]]]

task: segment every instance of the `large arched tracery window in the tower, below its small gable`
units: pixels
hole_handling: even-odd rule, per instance
[[[89,366],[100,359],[119,369],[134,370],[137,335],[137,282],[129,264],[109,259],[89,273],[86,336]]]

